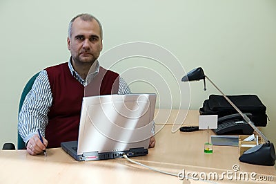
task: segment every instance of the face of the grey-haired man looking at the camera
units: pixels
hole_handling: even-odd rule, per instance
[[[103,45],[99,24],[94,19],[83,21],[75,19],[72,24],[71,38],[67,39],[68,50],[72,55],[72,62],[93,64],[99,57]]]

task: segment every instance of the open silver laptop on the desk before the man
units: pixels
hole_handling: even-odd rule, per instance
[[[84,97],[79,138],[61,142],[76,160],[103,160],[148,154],[155,133],[156,94]]]

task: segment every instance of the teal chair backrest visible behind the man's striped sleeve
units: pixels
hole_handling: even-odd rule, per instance
[[[22,108],[22,104],[26,98],[26,95],[29,93],[30,89],[32,89],[32,84],[34,84],[34,80],[37,79],[37,76],[39,75],[39,73],[36,73],[34,76],[32,76],[30,78],[30,80],[28,80],[27,84],[25,85],[22,94],[21,94],[21,98],[19,101],[19,109],[18,109],[18,114],[21,111]],[[17,131],[17,149],[25,149],[26,145],[25,142],[23,141],[23,139],[21,138],[21,136],[19,135],[18,131]]]

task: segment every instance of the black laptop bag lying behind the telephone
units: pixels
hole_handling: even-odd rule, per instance
[[[251,121],[256,127],[266,127],[268,117],[266,107],[257,95],[227,95],[242,113],[251,113]],[[238,113],[223,95],[209,95],[199,109],[201,115],[217,114],[218,118]]]

